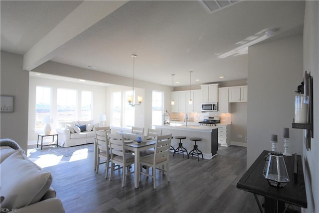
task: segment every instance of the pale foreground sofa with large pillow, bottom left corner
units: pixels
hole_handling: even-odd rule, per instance
[[[23,150],[1,145],[0,167],[1,212],[65,212],[51,188],[51,173],[31,162]]]

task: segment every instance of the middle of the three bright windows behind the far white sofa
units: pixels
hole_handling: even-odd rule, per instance
[[[75,90],[57,89],[57,120],[77,119],[77,97]]]

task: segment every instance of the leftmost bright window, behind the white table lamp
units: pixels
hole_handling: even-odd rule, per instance
[[[49,87],[36,87],[35,92],[35,128],[44,128],[42,118],[44,115],[51,115],[52,92]]]

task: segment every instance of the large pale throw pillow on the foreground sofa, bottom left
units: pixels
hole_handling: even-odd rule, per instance
[[[50,172],[42,170],[25,154],[15,152],[1,163],[1,209],[19,209],[39,202],[52,183]],[[14,174],[12,174],[13,171]]]

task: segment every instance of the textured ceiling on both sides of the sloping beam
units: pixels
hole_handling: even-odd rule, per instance
[[[80,3],[1,0],[1,50],[25,54]],[[304,10],[304,1],[249,0],[210,14],[199,1],[131,0],[70,39],[51,60],[132,77],[131,55],[137,54],[135,77],[148,82],[171,85],[174,73],[180,86],[189,85],[189,71],[192,84],[242,80],[247,47],[302,34]],[[277,33],[265,36],[272,28]]]

